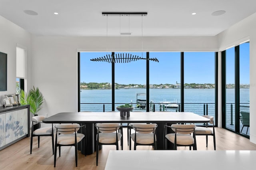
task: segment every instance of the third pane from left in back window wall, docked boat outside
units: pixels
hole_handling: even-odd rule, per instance
[[[155,111],[178,111],[180,106],[180,52],[150,52],[150,104]]]

